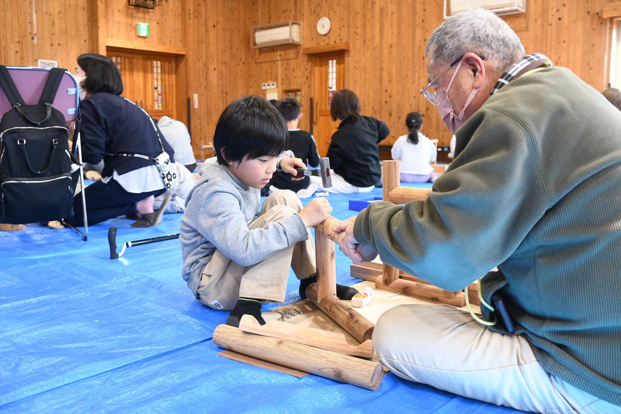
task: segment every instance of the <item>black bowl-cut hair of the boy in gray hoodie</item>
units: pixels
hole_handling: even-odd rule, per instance
[[[263,156],[277,157],[289,144],[283,116],[262,96],[250,95],[229,104],[214,132],[215,156],[220,165]],[[222,156],[225,151],[227,162]]]

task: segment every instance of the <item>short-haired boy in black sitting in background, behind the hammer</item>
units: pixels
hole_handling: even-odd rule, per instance
[[[297,123],[302,119],[300,111],[300,103],[295,98],[283,98],[276,106],[278,112],[287,122],[289,129],[289,145],[287,149],[293,151],[296,158],[302,160],[309,165],[319,165],[319,154],[317,154],[317,146],[315,139],[310,132],[302,131],[297,127]],[[274,177],[270,181],[270,190],[291,190],[296,193],[299,198],[307,198],[312,196],[317,190],[317,185],[311,183],[311,178],[305,177],[304,180],[292,181],[291,178],[281,172],[275,172]]]

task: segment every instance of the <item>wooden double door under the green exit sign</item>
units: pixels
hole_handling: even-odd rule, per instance
[[[176,119],[175,57],[164,53],[108,48],[123,80],[123,96],[150,116]]]

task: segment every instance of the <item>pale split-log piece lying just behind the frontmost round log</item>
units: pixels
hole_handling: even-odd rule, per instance
[[[242,329],[244,332],[286,339],[286,341],[297,344],[338,352],[343,355],[360,356],[368,359],[373,357],[373,341],[371,339],[367,339],[360,345],[352,345],[345,334],[338,332],[324,331],[323,329],[279,321],[270,321],[265,325],[261,325],[251,315],[242,316],[239,329]]]

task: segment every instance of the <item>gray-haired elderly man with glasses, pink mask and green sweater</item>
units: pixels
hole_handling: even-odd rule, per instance
[[[520,410],[618,413],[621,116],[524,54],[483,9],[434,30],[422,93],[456,135],[455,160],[427,200],[373,203],[339,226],[340,242],[353,260],[353,244],[371,244],[450,291],[498,267],[481,283],[494,309],[481,306],[484,324],[438,305],[381,316],[373,343],[395,374]]]

